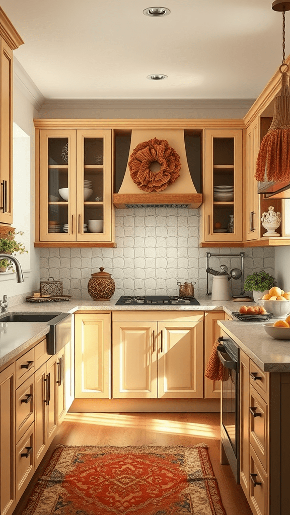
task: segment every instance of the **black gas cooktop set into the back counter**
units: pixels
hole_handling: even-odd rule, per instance
[[[120,299],[117,300],[116,306],[121,305],[125,306],[128,304],[133,305],[157,305],[157,306],[163,306],[163,305],[171,305],[171,304],[178,304],[178,305],[200,305],[199,301],[195,297],[174,297],[171,295],[141,295],[141,296],[135,296],[135,295],[122,295]]]

